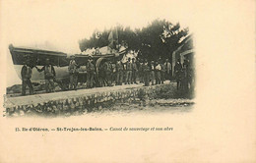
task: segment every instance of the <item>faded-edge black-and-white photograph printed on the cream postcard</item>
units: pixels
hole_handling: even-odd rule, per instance
[[[6,87],[4,116],[190,112],[196,79],[193,31],[167,18],[143,26],[122,25],[117,18],[92,25],[93,30],[80,27],[81,34],[65,48],[67,27],[53,31],[65,38],[25,43],[14,35],[6,47],[14,77]],[[40,25],[34,25],[32,32],[39,35]]]

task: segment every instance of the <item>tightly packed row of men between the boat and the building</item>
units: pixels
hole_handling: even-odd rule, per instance
[[[160,84],[165,80],[170,80],[171,64],[168,59],[165,62],[148,60],[136,60],[135,58],[128,58],[125,63],[121,60],[116,63],[106,61],[99,72],[100,85],[121,85],[133,84],[143,82],[146,86],[152,84]]]

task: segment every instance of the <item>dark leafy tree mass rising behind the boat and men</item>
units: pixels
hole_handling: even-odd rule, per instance
[[[180,38],[188,34],[188,27],[181,28],[179,23],[173,25],[165,20],[155,20],[147,27],[135,28],[115,27],[118,33],[118,44],[128,45],[129,50],[140,51],[141,58],[170,59],[170,54],[180,45]],[[87,48],[107,46],[111,29],[104,29],[97,37],[96,32],[90,39],[79,41],[81,51]]]

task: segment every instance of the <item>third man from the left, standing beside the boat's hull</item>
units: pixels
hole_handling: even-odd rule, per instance
[[[69,62],[69,77],[70,77],[70,89],[77,89],[78,85],[78,65],[75,61],[75,56],[71,56],[71,61]]]

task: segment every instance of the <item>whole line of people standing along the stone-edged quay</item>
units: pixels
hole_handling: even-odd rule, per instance
[[[41,69],[35,67],[38,72],[44,72],[45,90],[46,92],[55,91],[54,81],[56,73],[54,67],[50,64],[49,59],[45,60],[45,66]],[[68,66],[69,72],[69,89],[76,90],[78,87],[78,79],[85,76],[87,88],[96,86],[112,86],[122,84],[144,83],[145,86],[161,84],[163,81],[175,79],[177,88],[187,90],[191,87],[193,81],[193,72],[189,60],[184,60],[181,64],[178,61],[174,66],[174,75],[172,75],[172,66],[168,59],[152,60],[128,58],[127,62],[121,60],[104,61],[96,72],[96,65],[93,57],[89,57],[86,65],[86,74],[80,75],[80,66],[76,63],[75,56],[71,57]],[[27,62],[22,69],[22,94],[26,94],[27,85],[30,88],[30,94],[33,93],[32,88],[32,68]]]

